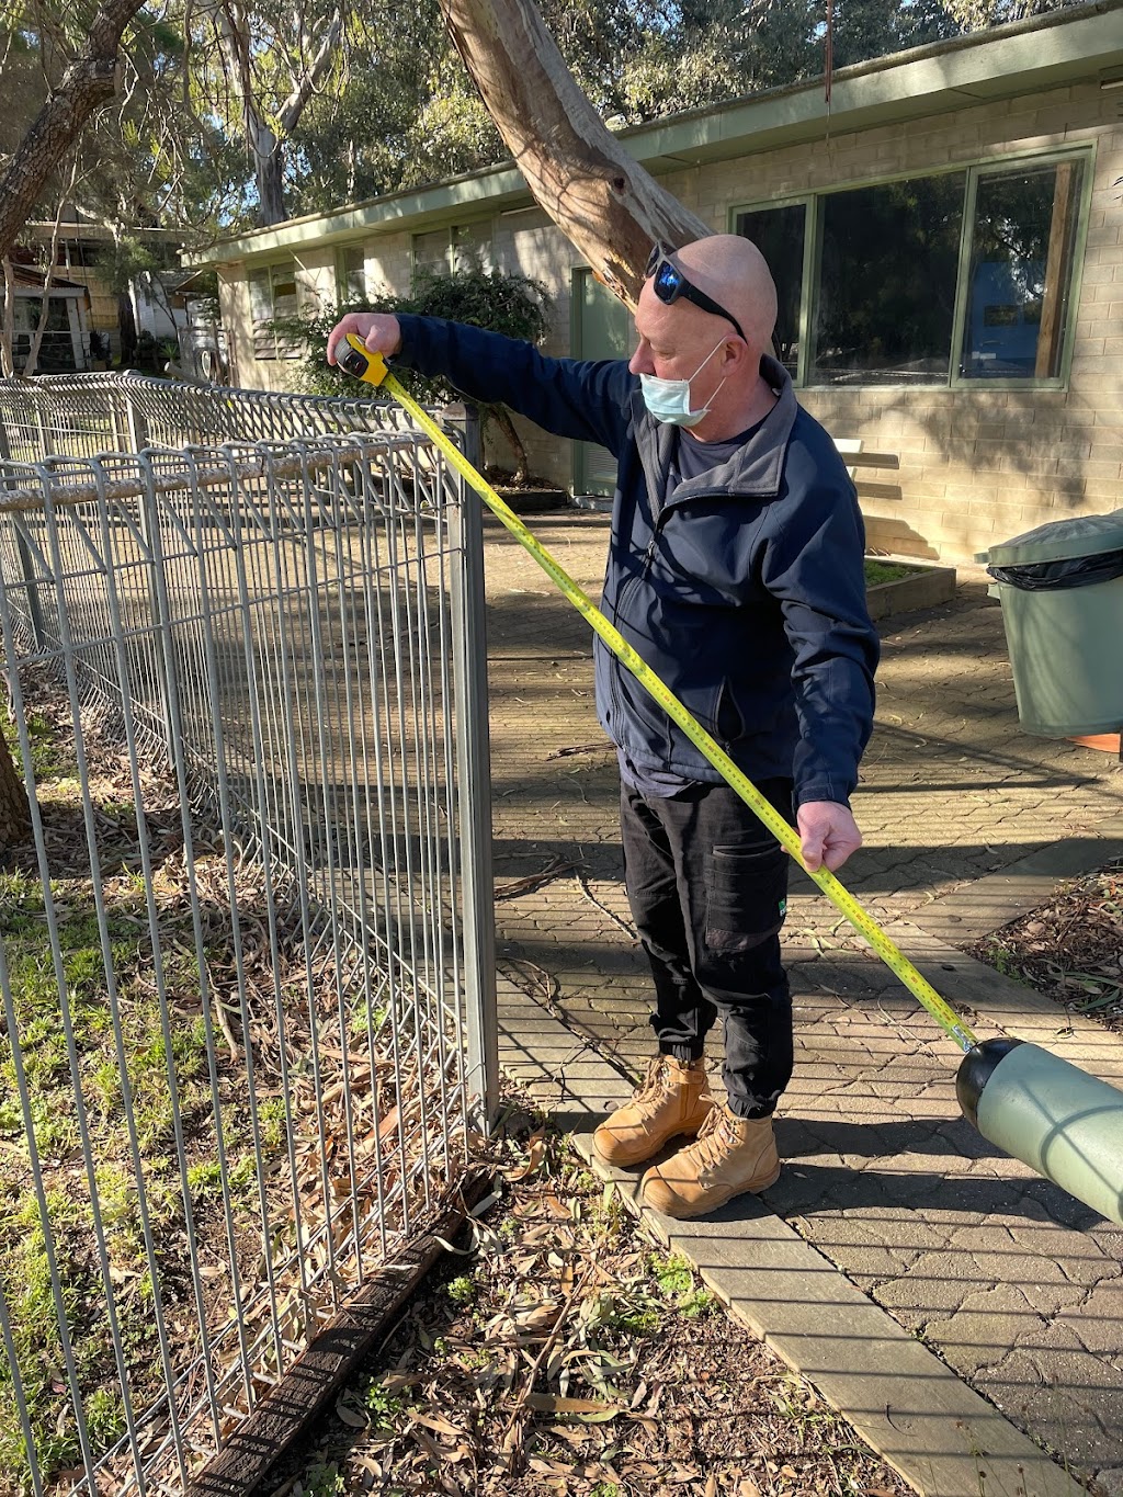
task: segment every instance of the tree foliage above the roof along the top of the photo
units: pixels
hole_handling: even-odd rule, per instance
[[[1069,0],[834,0],[834,66]],[[0,171],[57,90],[97,0],[0,0]],[[825,0],[541,0],[614,127],[813,78]],[[117,97],[87,126],[73,201],[120,228],[237,232],[418,187],[506,148],[437,0],[145,0]],[[43,183],[54,217],[70,162]]]

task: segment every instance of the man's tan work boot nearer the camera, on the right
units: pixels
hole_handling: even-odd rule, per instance
[[[738,1118],[716,1106],[693,1144],[644,1175],[644,1205],[669,1217],[705,1216],[746,1190],[780,1178],[773,1120]]]

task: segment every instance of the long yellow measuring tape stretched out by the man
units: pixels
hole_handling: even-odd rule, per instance
[[[554,560],[550,551],[547,551],[547,548],[535,539],[533,533],[527,530],[518,515],[503,503],[487,479],[476,473],[457,445],[401,388],[398,380],[395,380],[386,368],[386,362],[382,355],[371,353],[370,349],[364,346],[362,340],[355,337],[355,334],[349,334],[346,341],[349,347],[340,347],[335,353],[340,368],[353,374],[356,379],[365,380],[368,385],[379,385],[382,389],[389,391],[394,400],[397,400],[398,404],[409,412],[418,427],[421,427],[421,430],[433,439],[461,478],[464,478],[464,481],[475,488],[487,506],[499,516],[499,519],[503,521],[511,534],[530,552],[547,576],[554,581],[573,608],[588,623],[593,632],[603,639],[612,654],[623,665],[626,665],[641,686],[651,693],[668,717],[678,723],[687,738],[702,750],[714,769],[717,769],[719,774],[722,774],[723,778],[734,787],[734,790],[737,790],[746,805],[749,805],[756,816],[759,816],[780,846],[789,852],[792,858],[795,858],[809,877],[815,879],[827,898],[842,915],[846,916],[853,928],[865,937],[886,967],[889,967],[895,976],[900,978],[909,993],[912,993],[912,996],[924,1004],[928,1013],[931,1013],[936,1022],[951,1036],[951,1039],[955,1040],[957,1045],[960,1045],[964,1051],[972,1049],[976,1043],[975,1034],[972,1034],[970,1028],[960,1019],[955,1010],[939,996],[928,979],[922,976],[916,967],[913,967],[904,952],[889,939],[889,936],[885,934],[873,916],[862,909],[849,889],[842,885],[833,873],[827,868],[810,870],[804,865],[798,834],[788,825],[783,816],[780,816],[771,801],[767,801],[752,780],[741,774],[722,746],[710,737],[705,728],[702,728],[695,717],[692,717],[692,714],[683,707],[674,692],[663,684],[651,666],[647,665],[647,662],[642,660],[629,645],[624,636],[612,624],[609,624],[588,594],[576,585],[572,576]]]

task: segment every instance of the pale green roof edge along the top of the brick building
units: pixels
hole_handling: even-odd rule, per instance
[[[895,124],[1098,78],[1123,87],[1123,0],[1098,0],[839,69],[830,106],[822,78],[690,109],[618,132],[629,153],[659,177],[842,132]],[[484,217],[533,205],[512,162],[430,187],[386,193],[329,213],[287,219],[187,256],[192,265],[258,259],[308,244]]]

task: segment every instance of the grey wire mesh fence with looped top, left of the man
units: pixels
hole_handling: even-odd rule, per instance
[[[0,1491],[183,1493],[494,1084],[458,479],[359,406],[121,383],[0,388]]]

